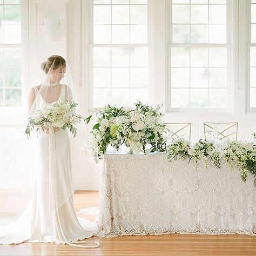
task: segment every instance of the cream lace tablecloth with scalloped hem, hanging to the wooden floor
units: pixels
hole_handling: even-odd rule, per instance
[[[107,154],[99,237],[169,233],[256,235],[256,188],[225,163],[172,163],[163,154]]]

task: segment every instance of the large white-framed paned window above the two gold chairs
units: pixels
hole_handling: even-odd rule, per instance
[[[173,0],[170,5],[169,110],[226,109],[227,1]]]

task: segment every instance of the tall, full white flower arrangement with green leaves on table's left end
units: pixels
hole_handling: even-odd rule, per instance
[[[103,158],[109,145],[119,150],[124,144],[134,153],[165,151],[165,125],[159,110],[160,106],[154,108],[137,102],[133,108],[107,105],[98,111],[91,130],[96,161]],[[91,119],[92,116],[86,118],[87,124]]]

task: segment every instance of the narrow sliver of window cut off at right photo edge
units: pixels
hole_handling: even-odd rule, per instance
[[[256,107],[256,0],[251,1],[250,107]]]

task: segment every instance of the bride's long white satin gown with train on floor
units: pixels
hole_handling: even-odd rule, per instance
[[[38,93],[35,88],[36,95]],[[59,99],[65,100],[62,86]],[[36,109],[42,109],[44,100],[36,97]],[[39,134],[35,146],[37,166],[33,197],[25,211],[15,223],[0,226],[0,244],[28,242],[75,242],[97,234],[97,224],[79,219],[73,208],[73,187],[70,168],[69,131],[55,134],[56,176],[49,175],[49,137]]]

